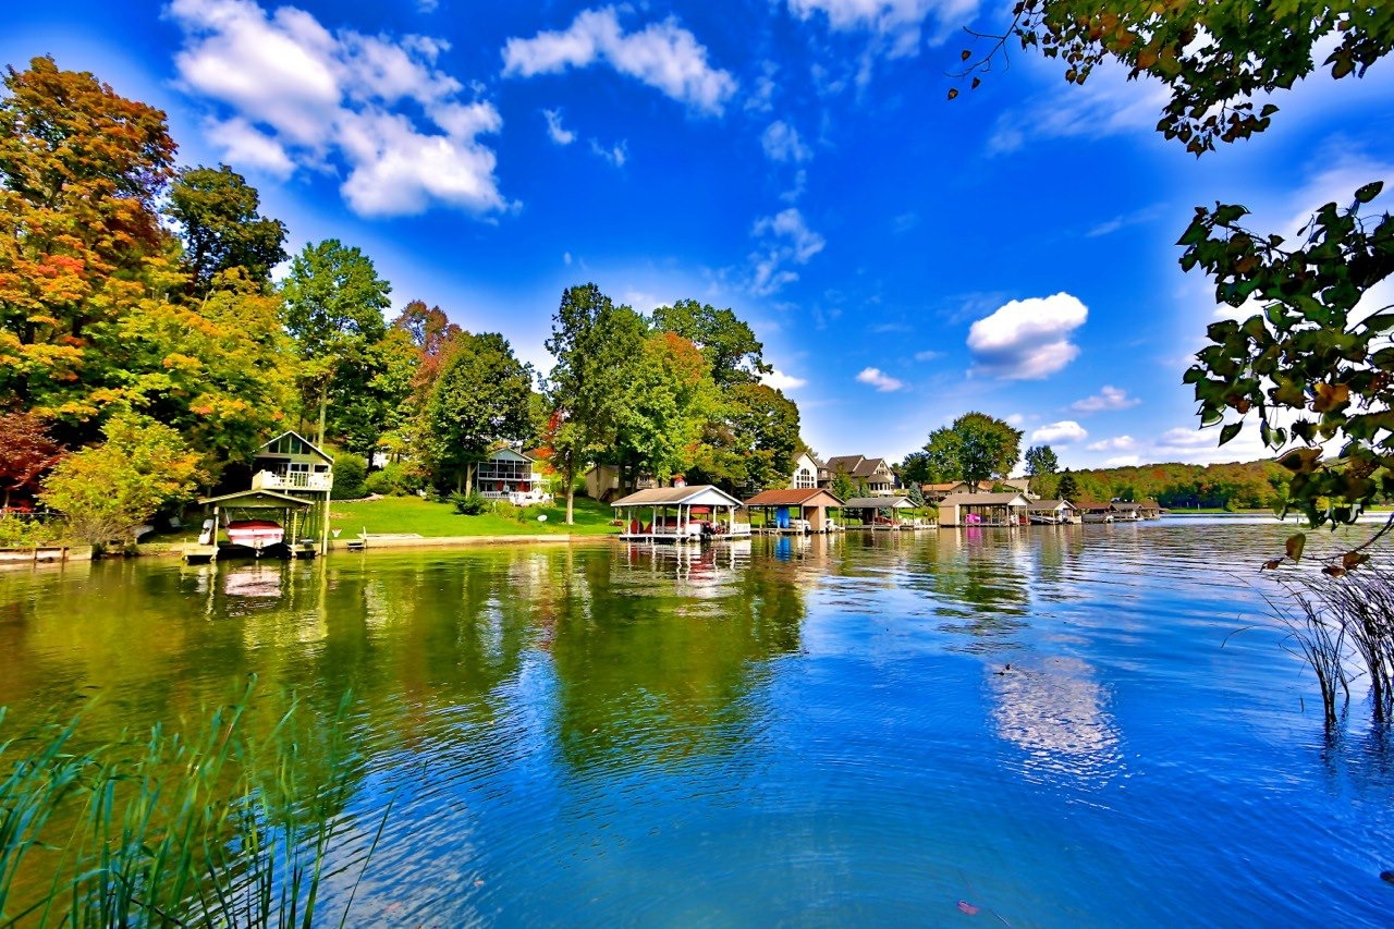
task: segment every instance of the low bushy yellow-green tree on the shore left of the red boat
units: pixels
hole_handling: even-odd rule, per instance
[[[102,427],[106,441],[64,458],[43,478],[43,502],[67,516],[75,541],[135,541],[135,530],[164,506],[188,499],[198,452],[178,432],[121,411]]]

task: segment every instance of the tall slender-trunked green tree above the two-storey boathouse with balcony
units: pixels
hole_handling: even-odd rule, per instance
[[[315,444],[323,445],[330,391],[364,385],[369,352],[388,329],[382,311],[390,305],[392,285],[361,251],[326,239],[291,259],[282,293],[286,329],[300,352],[301,389],[307,406],[319,411]]]

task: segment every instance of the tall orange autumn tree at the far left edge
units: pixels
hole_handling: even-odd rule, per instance
[[[0,396],[91,420],[114,324],[164,247],[155,201],[173,176],[164,114],[89,73],[33,59],[0,98]]]

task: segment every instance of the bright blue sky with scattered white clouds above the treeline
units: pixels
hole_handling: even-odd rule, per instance
[[[1076,88],[1016,53],[948,102],[960,28],[1005,8],[54,0],[7,14],[0,61],[162,107],[290,250],[358,246],[397,307],[544,371],[562,290],[594,280],[736,310],[822,455],[899,459],[979,409],[1073,467],[1259,458],[1196,428],[1181,374],[1216,308],[1174,243],[1199,204],[1291,230],[1394,179],[1394,70],[1319,75],[1197,160],[1114,71]]]

